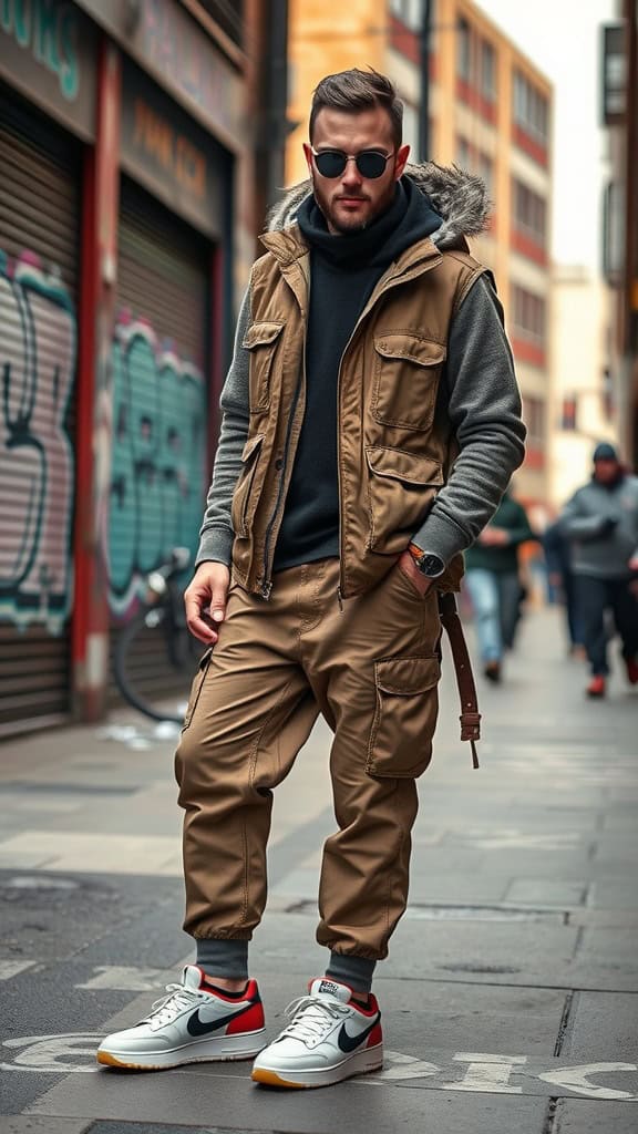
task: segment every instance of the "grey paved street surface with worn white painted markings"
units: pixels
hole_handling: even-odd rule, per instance
[[[637,1134],[638,688],[587,702],[556,611],[481,683],[481,769],[457,739],[446,659],[421,779],[410,908],[378,968],[383,1073],[277,1092],[246,1065],[98,1070],[190,958],[179,929],[170,738],[73,729],[0,748],[0,1132]],[[321,972],[320,846],[333,828],[318,728],[276,797],[253,948],[268,1026]],[[159,990],[159,991],[158,991]]]

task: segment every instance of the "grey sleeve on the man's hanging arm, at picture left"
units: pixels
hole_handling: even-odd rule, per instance
[[[219,401],[221,430],[200,531],[200,547],[195,566],[207,559],[230,564],[233,555],[235,536],[230,523],[230,503],[242,468],[242,450],[249,435],[250,422],[250,355],[242,346],[249,325],[250,291],[246,291],[237,319],[233,362]]]

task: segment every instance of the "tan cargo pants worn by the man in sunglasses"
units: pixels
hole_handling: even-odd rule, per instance
[[[338,562],[275,576],[268,602],[237,584],[195,675],[176,756],[185,809],[186,920],[194,938],[247,939],[266,904],[272,788],[321,712],[334,731],[338,826],[324,847],[317,940],[387,956],[405,909],[414,778],[437,717],[437,598],[398,567],[337,600]]]

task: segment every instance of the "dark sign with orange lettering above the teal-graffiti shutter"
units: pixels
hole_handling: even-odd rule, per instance
[[[204,130],[125,60],[123,167],[185,220],[218,236],[224,174],[213,147]]]

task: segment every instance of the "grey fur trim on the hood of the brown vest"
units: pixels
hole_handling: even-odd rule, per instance
[[[492,202],[480,177],[457,166],[437,166],[434,161],[408,164],[404,176],[429,197],[433,209],[443,217],[440,227],[430,237],[438,248],[457,247],[462,237],[478,236],[487,228]],[[299,206],[311,192],[310,180],[288,189],[270,210],[267,231],[289,228]]]

